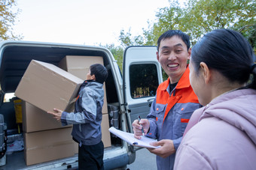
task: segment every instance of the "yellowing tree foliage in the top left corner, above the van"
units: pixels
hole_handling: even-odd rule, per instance
[[[13,34],[15,18],[20,12],[11,10],[13,6],[17,5],[16,0],[2,0],[0,1],[0,40],[20,40],[22,37]]]

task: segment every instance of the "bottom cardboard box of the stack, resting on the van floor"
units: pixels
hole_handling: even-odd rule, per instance
[[[71,132],[72,127],[24,133],[26,165],[74,156],[75,148]]]

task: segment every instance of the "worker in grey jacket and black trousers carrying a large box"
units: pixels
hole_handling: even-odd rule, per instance
[[[53,109],[48,112],[61,121],[63,126],[73,124],[72,136],[79,143],[78,169],[104,169],[102,143],[103,83],[108,70],[102,64],[93,64],[87,73],[87,80],[81,85],[75,102],[75,112]]]

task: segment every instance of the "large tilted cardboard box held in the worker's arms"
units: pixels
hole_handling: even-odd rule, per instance
[[[32,60],[15,91],[15,96],[38,108],[72,112],[82,79],[41,61]]]

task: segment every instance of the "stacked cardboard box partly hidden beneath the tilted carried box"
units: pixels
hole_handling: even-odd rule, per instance
[[[21,106],[23,115],[23,132],[25,133],[72,127],[72,125],[62,126],[59,121],[56,121],[56,119],[53,118],[53,115],[48,114],[44,110],[41,110],[30,103],[22,101]]]

